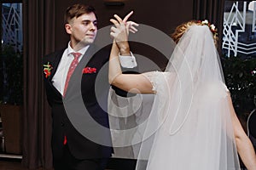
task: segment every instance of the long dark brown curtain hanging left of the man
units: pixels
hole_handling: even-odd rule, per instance
[[[55,49],[55,1],[23,0],[24,114],[22,163],[52,167],[51,115],[43,84],[42,57]]]

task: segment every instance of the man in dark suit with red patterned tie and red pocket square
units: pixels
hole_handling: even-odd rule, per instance
[[[54,168],[55,170],[103,170],[113,153],[112,146],[85,138],[69,119],[70,115],[75,117],[84,113],[80,113],[73,105],[67,111],[64,102],[72,103],[79,100],[82,95],[86,111],[93,120],[102,127],[109,127],[106,108],[109,86],[101,88],[100,95],[96,94],[99,93],[96,82],[102,84],[108,82],[108,71],[101,70],[108,62],[109,51],[98,51],[93,44],[97,32],[95,8],[84,4],[68,7],[65,14],[65,29],[70,36],[67,48],[48,54],[43,59],[44,85],[52,109],[51,146]],[[127,67],[137,65],[133,56],[120,56],[120,60]],[[79,73],[83,74],[82,78],[74,76]],[[74,82],[79,82],[79,87],[75,86]],[[94,127],[86,127],[86,121],[88,120],[84,120],[84,128],[93,130]],[[96,137],[106,137],[105,140],[111,143],[109,129],[102,132],[94,130],[92,133]]]

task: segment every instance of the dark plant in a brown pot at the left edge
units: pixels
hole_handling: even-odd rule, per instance
[[[0,114],[7,154],[21,154],[22,58],[22,54],[11,45],[2,47]]]

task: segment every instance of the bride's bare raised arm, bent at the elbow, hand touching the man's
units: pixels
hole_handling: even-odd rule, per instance
[[[110,84],[121,88],[127,92],[136,94],[154,94],[152,84],[143,74],[122,74],[119,64],[119,52],[122,54],[130,54],[130,47],[127,41],[127,30],[125,23],[114,15],[116,20],[110,20],[115,27],[111,28],[111,37],[113,37],[113,45],[109,57],[108,81]],[[117,44],[119,43],[119,44]]]

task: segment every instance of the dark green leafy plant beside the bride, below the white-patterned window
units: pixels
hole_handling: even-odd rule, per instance
[[[222,65],[236,113],[242,115],[253,111],[256,99],[256,59],[223,57]]]

